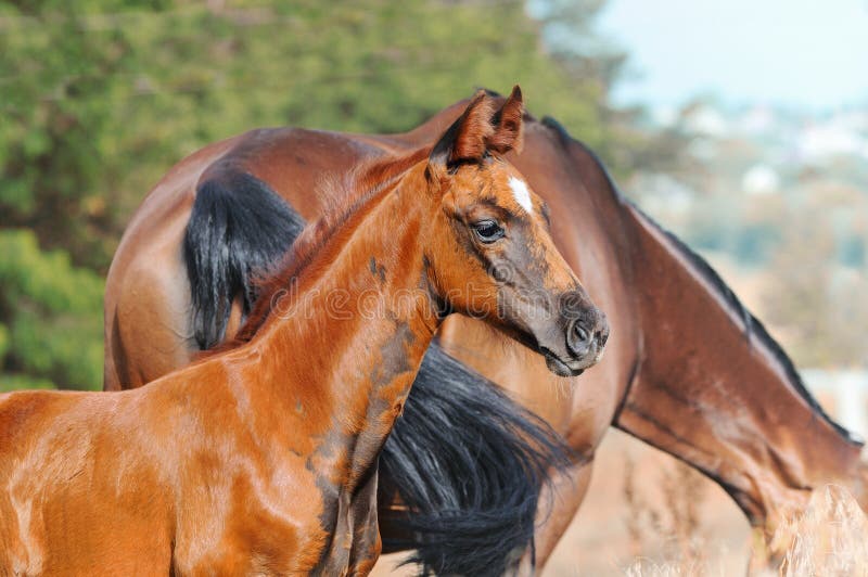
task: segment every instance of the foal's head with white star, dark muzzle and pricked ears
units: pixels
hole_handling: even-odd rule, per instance
[[[549,233],[548,208],[502,154],[520,150],[519,87],[498,111],[480,92],[429,157],[429,192],[442,210],[425,255],[437,296],[484,317],[546,357],[562,376],[602,355],[609,326]]]

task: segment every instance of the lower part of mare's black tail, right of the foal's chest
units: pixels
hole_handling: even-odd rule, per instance
[[[410,510],[406,539],[384,548],[416,549],[408,563],[424,575],[514,570],[533,547],[549,467],[569,457],[545,421],[434,342],[380,459],[382,482]]]

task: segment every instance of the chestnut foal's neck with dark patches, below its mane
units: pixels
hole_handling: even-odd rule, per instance
[[[258,386],[315,439],[317,469],[350,489],[375,462],[439,323],[424,184],[416,167],[350,214],[250,344],[269,359]]]

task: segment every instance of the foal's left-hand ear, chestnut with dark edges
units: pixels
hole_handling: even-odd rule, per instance
[[[429,165],[434,169],[444,169],[462,162],[482,161],[488,149],[488,138],[495,132],[493,115],[492,99],[484,90],[480,90],[461,116],[434,144]]]

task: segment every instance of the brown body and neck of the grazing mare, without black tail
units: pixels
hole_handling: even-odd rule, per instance
[[[261,195],[232,189],[233,178],[247,175],[292,206],[289,221],[312,219],[328,206],[323,179],[431,142],[460,111],[455,105],[395,136],[258,130],[181,162],[133,217],[108,274],[106,388],[143,385],[212,344],[195,322],[207,297],[191,303],[181,253],[194,201],[206,203],[203,191],[234,191],[233,206],[270,211],[273,203]],[[840,483],[864,498],[860,444],[822,413],[716,274],[627,203],[586,148],[553,121],[528,120],[524,151],[510,159],[548,202],[556,244],[612,325],[605,358],[569,386],[538,356],[477,321],[454,316],[441,331],[445,350],[542,416],[575,451],[572,467],[554,475],[554,512],[537,530],[540,563],[582,502],[593,452],[612,424],[714,478],[766,533],[820,484]],[[222,236],[216,241],[225,246]],[[243,291],[219,296],[232,302],[231,315],[212,331],[225,326],[231,335]],[[210,300],[219,311],[217,297]]]

